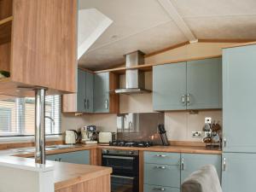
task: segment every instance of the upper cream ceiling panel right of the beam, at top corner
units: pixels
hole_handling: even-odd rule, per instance
[[[255,0],[171,0],[183,17],[256,15]]]

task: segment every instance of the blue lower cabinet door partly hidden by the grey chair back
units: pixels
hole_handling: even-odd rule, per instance
[[[220,154],[181,154],[181,183],[189,177],[192,172],[212,164],[218,172],[218,178],[221,179],[221,155]]]

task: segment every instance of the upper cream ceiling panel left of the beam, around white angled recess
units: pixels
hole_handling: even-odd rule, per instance
[[[126,38],[171,20],[156,0],[80,0],[80,9],[98,9],[113,20],[90,49]]]

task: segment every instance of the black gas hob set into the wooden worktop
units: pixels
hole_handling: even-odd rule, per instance
[[[109,146],[148,148],[153,146],[153,142],[149,142],[149,141],[133,142],[133,141],[114,140],[112,142],[109,142]]]

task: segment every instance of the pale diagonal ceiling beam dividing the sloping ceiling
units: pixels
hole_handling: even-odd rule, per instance
[[[190,43],[197,42],[197,38],[193,32],[189,29],[189,26],[185,23],[181,15],[177,13],[177,9],[173,6],[171,0],[158,0],[166,13],[176,23],[177,27],[183,32],[184,36],[188,38]]]

